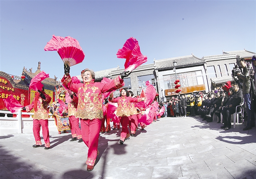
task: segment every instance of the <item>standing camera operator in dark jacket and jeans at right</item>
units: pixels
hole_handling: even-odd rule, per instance
[[[255,122],[251,121],[251,98],[250,98],[250,88],[251,88],[251,81],[250,81],[250,73],[249,69],[247,68],[247,64],[244,58],[240,59],[240,65],[243,68],[243,73],[237,73],[239,81],[243,83],[243,95],[244,95],[244,102],[246,103],[246,113],[247,113],[247,125],[243,129],[244,131],[251,129],[255,126]]]

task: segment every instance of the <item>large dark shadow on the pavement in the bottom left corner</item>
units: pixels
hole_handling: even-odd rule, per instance
[[[50,173],[45,173],[41,170],[35,170],[36,163],[28,162],[27,160],[13,156],[9,151],[0,146],[0,178],[51,178]]]

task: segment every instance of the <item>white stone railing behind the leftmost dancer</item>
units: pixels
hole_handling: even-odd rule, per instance
[[[4,117],[0,117],[0,134],[16,134],[16,133],[32,133],[33,132],[33,118],[34,113],[26,113],[18,111],[17,113],[11,113],[10,111],[2,111]],[[16,114],[17,117],[7,117],[7,114]],[[29,117],[21,117],[21,115],[29,115]],[[49,114],[48,127],[50,130],[57,130],[57,127],[52,118],[52,114]]]

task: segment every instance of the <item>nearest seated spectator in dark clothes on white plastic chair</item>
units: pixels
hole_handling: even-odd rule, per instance
[[[229,93],[230,92],[231,90]],[[220,128],[224,130],[229,130],[231,128],[231,115],[236,112],[236,106],[241,105],[244,100],[243,92],[239,89],[237,83],[234,85],[234,95],[231,95],[229,98],[226,107],[221,111],[224,125]]]

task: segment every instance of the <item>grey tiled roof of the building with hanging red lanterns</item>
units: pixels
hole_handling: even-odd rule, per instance
[[[173,66],[174,60],[177,62],[176,68],[204,64],[204,60],[202,58],[198,58],[192,54],[192,55],[188,55],[188,56],[155,60],[154,62],[155,62],[156,69],[158,69],[158,70],[172,69],[172,68],[174,68],[174,66]]]

